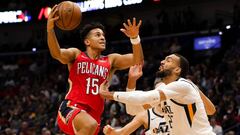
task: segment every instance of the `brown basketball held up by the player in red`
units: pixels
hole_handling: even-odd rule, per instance
[[[73,30],[81,22],[82,12],[80,7],[71,1],[63,1],[58,5],[59,19],[55,22],[61,30]]]

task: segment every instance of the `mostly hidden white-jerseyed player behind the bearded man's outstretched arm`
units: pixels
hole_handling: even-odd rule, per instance
[[[127,91],[132,91],[136,87],[136,81],[142,76],[142,66],[131,66],[128,73]],[[161,83],[163,84],[163,83]],[[134,106],[126,104],[127,113],[131,115],[137,114],[134,119],[121,129],[115,129],[110,125],[104,127],[103,132],[106,135],[129,135],[140,126],[144,126],[145,135],[170,135],[171,123],[165,120],[164,113],[160,104],[154,108],[150,105]]]

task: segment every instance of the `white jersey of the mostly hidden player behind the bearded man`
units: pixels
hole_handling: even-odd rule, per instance
[[[171,135],[170,134],[170,125],[165,120],[163,114],[157,114],[154,111],[154,108],[147,110],[148,111],[148,129],[145,132],[145,135]]]

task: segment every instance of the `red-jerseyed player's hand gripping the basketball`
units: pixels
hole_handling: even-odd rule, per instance
[[[58,12],[58,5],[55,5],[52,8],[52,11],[50,12],[48,16],[48,21],[47,21],[47,31],[51,31],[54,28],[54,22],[59,19],[59,16],[56,16],[56,13]]]

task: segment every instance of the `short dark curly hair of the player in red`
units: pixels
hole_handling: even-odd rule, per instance
[[[92,29],[96,29],[96,28],[101,29],[103,31],[103,33],[105,34],[105,32],[106,32],[105,27],[101,23],[93,22],[93,23],[86,24],[85,26],[83,26],[82,30],[80,31],[81,43],[84,44],[84,40],[86,39],[89,32]]]

